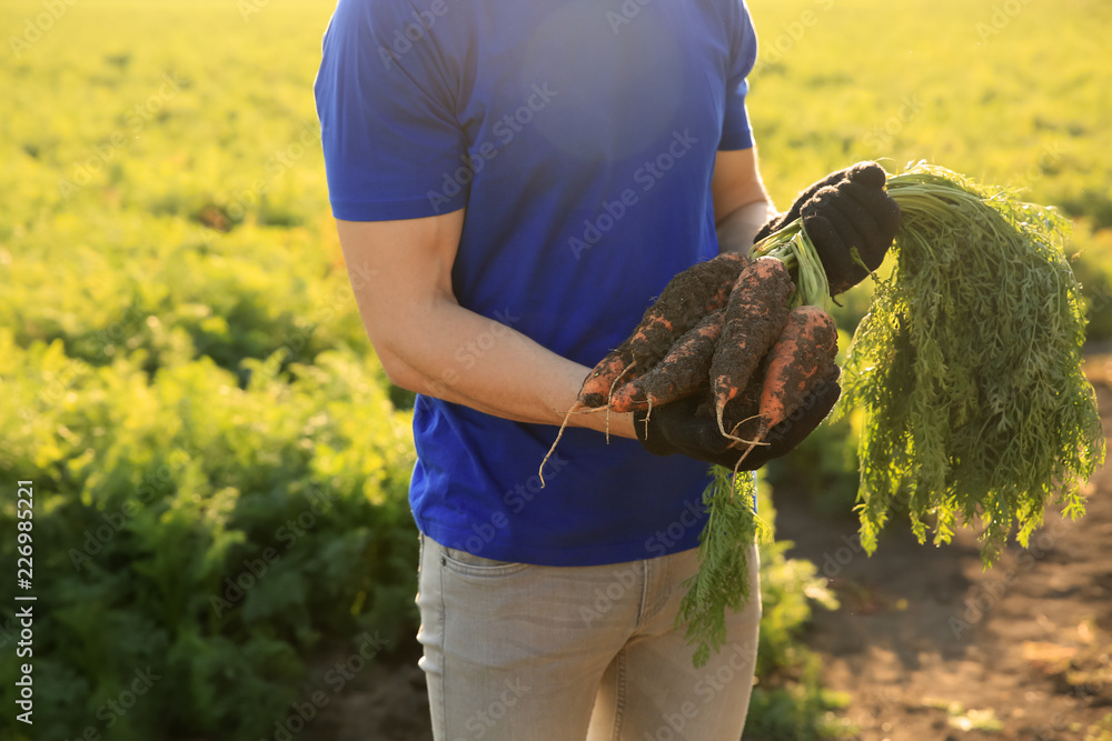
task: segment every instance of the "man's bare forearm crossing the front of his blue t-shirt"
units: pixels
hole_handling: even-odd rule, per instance
[[[516,420],[559,424],[589,369],[502,323],[444,299],[410,314],[376,348],[395,382],[413,391]],[[569,424],[606,429],[603,413]],[[634,437],[631,414],[610,414],[609,431]]]

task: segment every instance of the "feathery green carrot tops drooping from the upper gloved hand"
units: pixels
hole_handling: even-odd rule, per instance
[[[888,190],[896,268],[854,336],[840,402],[865,410],[862,544],[906,502],[921,541],[929,515],[935,543],[980,519],[987,564],[1013,527],[1026,544],[1052,497],[1079,517],[1104,459],[1080,287],[1052,211],[925,166]]]

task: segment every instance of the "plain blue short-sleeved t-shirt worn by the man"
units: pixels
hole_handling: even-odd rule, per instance
[[[594,366],[718,252],[717,150],[753,146],[743,0],[339,0],[315,83],[332,212],[467,209],[460,306]],[[455,359],[476,362],[494,337]],[[418,395],[410,505],[450,548],[587,565],[693,548],[707,467]]]

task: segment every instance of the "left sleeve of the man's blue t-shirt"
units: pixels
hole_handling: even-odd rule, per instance
[[[467,152],[450,76],[427,30],[406,36],[407,10],[403,0],[340,0],[325,32],[314,94],[337,219],[416,219],[466,203],[450,174]]]

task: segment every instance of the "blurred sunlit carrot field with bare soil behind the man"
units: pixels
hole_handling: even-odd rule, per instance
[[[1086,370],[1106,381],[1112,3],[747,4],[761,41],[749,113],[777,204],[875,159],[891,172],[927,160],[1059,207],[1090,310]],[[430,738],[414,667],[413,399],[387,381],[356,310],[364,267],[342,260],[314,110],[332,7],[0,3],[2,738]],[[868,288],[845,298],[835,317],[852,330]],[[820,429],[764,477],[767,511],[801,544],[762,555],[746,738],[1112,739],[1112,571],[1099,551],[1069,551],[1081,571],[1058,557],[1019,570],[1026,587],[1061,579],[1092,599],[1069,611],[1050,587],[1009,587],[1024,610],[992,614],[1007,617],[993,635],[1011,643],[957,607],[962,589],[989,583],[972,541],[940,554],[905,542],[900,521],[877,557],[842,563],[833,533],[850,548],[856,424]],[[26,592],[19,481],[34,492]],[[1093,507],[1082,532],[1106,543],[1110,520]],[[1010,550],[1004,565],[1021,559]],[[959,575],[945,599],[894,587],[946,569]],[[17,654],[20,593],[38,597],[31,655]],[[1056,632],[1021,630],[1040,614]],[[891,620],[870,635],[870,615]],[[995,640],[990,653],[1035,658],[963,652],[954,660],[977,670],[935,677],[945,697],[930,675],[886,671],[916,664],[898,641],[953,659],[923,643],[953,648],[954,615],[974,643]],[[1066,640],[1066,623],[1081,638]],[[1065,653],[1045,648],[1060,633]],[[17,719],[24,661],[33,725]],[[1034,684],[1005,679],[1029,664]],[[911,687],[911,699],[890,693]]]

